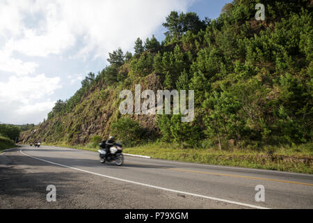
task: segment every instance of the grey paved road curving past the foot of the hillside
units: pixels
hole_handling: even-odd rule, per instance
[[[313,175],[22,146],[0,155],[0,208],[313,208]],[[56,202],[47,202],[47,185]],[[265,201],[255,201],[263,185]]]

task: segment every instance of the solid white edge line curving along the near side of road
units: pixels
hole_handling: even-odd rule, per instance
[[[113,179],[113,180],[119,180],[119,181],[122,181],[122,182],[133,183],[133,184],[136,184],[136,185],[141,185],[141,186],[145,186],[145,187],[152,187],[152,188],[155,188],[155,189],[166,190],[166,191],[175,192],[175,193],[179,193],[179,194],[186,194],[186,195],[190,195],[190,196],[194,196],[194,197],[202,197],[202,198],[210,199],[210,200],[214,200],[214,201],[221,201],[221,202],[225,202],[225,203],[232,203],[232,204],[236,204],[236,205],[239,205],[239,206],[246,206],[248,208],[271,209],[271,208],[265,208],[265,207],[262,207],[262,206],[255,206],[255,205],[248,204],[248,203],[241,203],[241,202],[230,201],[230,200],[226,200],[226,199],[219,199],[219,198],[216,198],[216,197],[204,196],[204,195],[201,195],[201,194],[193,194],[193,193],[183,192],[183,191],[179,191],[179,190],[172,190],[172,189],[168,189],[168,188],[165,188],[165,187],[158,187],[158,186],[149,185],[149,184],[145,184],[145,183],[138,183],[136,181],[125,180],[125,179],[121,179],[121,178],[115,178],[113,176],[107,176],[107,175],[104,175],[104,174],[97,174],[95,172],[91,172],[91,171],[87,171],[87,170],[83,170],[83,169],[78,169],[78,168],[75,168],[75,167],[70,167],[70,166],[67,166],[67,165],[59,164],[59,163],[56,163],[56,162],[51,162],[51,161],[48,161],[48,160],[43,160],[43,159],[40,159],[38,157],[33,157],[31,155],[23,153],[22,152],[22,148],[19,150],[19,152],[22,153],[23,155],[28,156],[28,157],[32,157],[33,159],[36,159],[36,160],[41,160],[43,162],[49,162],[49,163],[55,164],[57,166],[67,167],[67,168],[74,169],[74,170],[77,170],[77,171],[82,171],[82,172],[85,172],[85,173],[88,173],[88,174],[94,174],[94,175],[97,175],[97,176],[103,176],[105,178],[110,178],[110,179]]]

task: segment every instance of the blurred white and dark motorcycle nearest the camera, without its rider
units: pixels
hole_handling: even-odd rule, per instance
[[[101,163],[115,161],[115,164],[122,166],[124,162],[124,155],[122,155],[122,144],[115,144],[114,146],[111,146],[110,154],[106,154],[105,149],[101,146],[98,152]]]

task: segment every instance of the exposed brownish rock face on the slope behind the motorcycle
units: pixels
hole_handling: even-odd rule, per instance
[[[137,83],[132,83],[128,90],[131,90],[133,95],[135,95],[135,84],[141,84],[141,92],[150,89],[156,95],[157,90],[163,89],[161,75],[156,73],[148,75]],[[108,137],[111,124],[122,116],[119,106],[123,99],[119,98],[119,93],[120,91],[116,91],[116,89],[106,89],[103,86],[90,89],[90,92],[83,96],[72,112],[54,116],[35,126],[34,130],[22,132],[20,141],[22,143],[35,140],[49,143],[58,141],[76,145],[87,144],[94,135]],[[147,136],[156,135],[159,131],[155,124],[156,115],[128,116],[145,128]]]

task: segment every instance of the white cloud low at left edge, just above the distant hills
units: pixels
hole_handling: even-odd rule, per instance
[[[38,123],[47,117],[55,102],[49,100],[61,88],[60,77],[9,78],[0,82],[0,118],[3,123]]]

